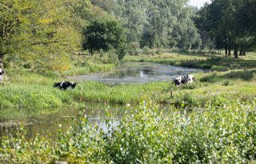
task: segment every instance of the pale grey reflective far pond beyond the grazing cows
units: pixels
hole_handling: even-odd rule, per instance
[[[96,81],[106,83],[166,82],[183,74],[193,74],[200,69],[170,66],[153,62],[126,62],[117,70],[108,73],[67,77],[76,81]]]

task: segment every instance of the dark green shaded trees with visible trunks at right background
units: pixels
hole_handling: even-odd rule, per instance
[[[214,0],[196,11],[202,48],[225,49],[226,56],[246,55],[256,45],[256,1]]]

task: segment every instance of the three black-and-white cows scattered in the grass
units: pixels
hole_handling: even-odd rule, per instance
[[[0,68],[0,82],[2,82],[3,74],[5,74],[5,71]],[[193,75],[183,75],[178,78],[175,78],[173,81],[174,85],[176,86],[192,82],[194,82]],[[61,90],[74,89],[75,86],[77,86],[77,84],[78,82],[55,82],[54,87],[59,88]]]

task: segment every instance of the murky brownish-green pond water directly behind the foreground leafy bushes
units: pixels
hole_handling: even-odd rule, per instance
[[[160,106],[164,112],[170,111],[170,106]],[[25,126],[27,130],[26,138],[33,138],[37,134],[42,136],[48,136],[51,139],[56,139],[58,129],[67,130],[70,126],[74,126],[76,122],[75,118],[79,117],[79,112],[86,114],[88,122],[90,124],[98,123],[102,127],[103,131],[107,131],[104,119],[106,118],[106,111],[110,113],[116,119],[115,123],[118,123],[118,118],[122,117],[125,113],[126,106],[120,105],[107,105],[104,103],[89,103],[86,102],[86,106],[80,108],[73,108],[71,106],[63,109],[7,109],[4,113],[11,113],[10,117],[1,115],[0,118],[0,143],[1,137],[4,135],[15,135],[18,128]],[[38,111],[40,110],[40,111]],[[53,111],[51,113],[50,111]],[[45,114],[37,115],[38,112]],[[48,114],[47,114],[48,113]],[[30,115],[31,114],[31,115]],[[81,115],[80,115],[81,117]]]

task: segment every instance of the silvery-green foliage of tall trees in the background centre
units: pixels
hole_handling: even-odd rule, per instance
[[[127,29],[129,42],[156,49],[190,48],[200,42],[187,1],[118,0],[115,6],[114,14]]]

